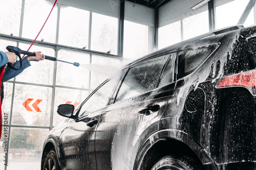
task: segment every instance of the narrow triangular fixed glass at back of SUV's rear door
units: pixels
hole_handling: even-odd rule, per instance
[[[170,54],[160,78],[159,87],[174,82],[176,53]]]

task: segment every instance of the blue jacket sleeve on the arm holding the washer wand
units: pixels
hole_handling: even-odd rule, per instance
[[[7,61],[8,62],[8,61]],[[19,67],[19,60],[16,61],[12,66],[14,66],[15,68],[18,68]],[[6,82],[16,76],[18,76],[22,71],[24,71],[24,69],[26,69],[27,67],[31,66],[30,62],[28,61],[28,58],[27,57],[24,57],[22,59],[22,68],[19,69],[19,70],[14,70],[10,67],[7,67],[5,69],[5,74],[4,74],[4,77],[3,77],[3,81]]]

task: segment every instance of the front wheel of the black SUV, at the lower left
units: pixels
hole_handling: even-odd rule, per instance
[[[55,151],[51,150],[46,156],[44,166],[42,170],[60,170],[57,154]]]

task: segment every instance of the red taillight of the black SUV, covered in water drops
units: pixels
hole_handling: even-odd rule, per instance
[[[223,78],[217,87],[230,87],[230,86],[244,86],[255,87],[256,70],[242,72],[240,74],[232,75]]]

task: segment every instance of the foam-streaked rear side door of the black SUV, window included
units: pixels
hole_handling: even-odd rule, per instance
[[[140,144],[159,129],[174,84],[156,87],[159,81],[173,80],[173,73],[170,80],[162,80],[160,75],[175,58],[176,54],[168,54],[129,68],[114,104],[99,119],[95,140],[98,169],[133,169]]]

